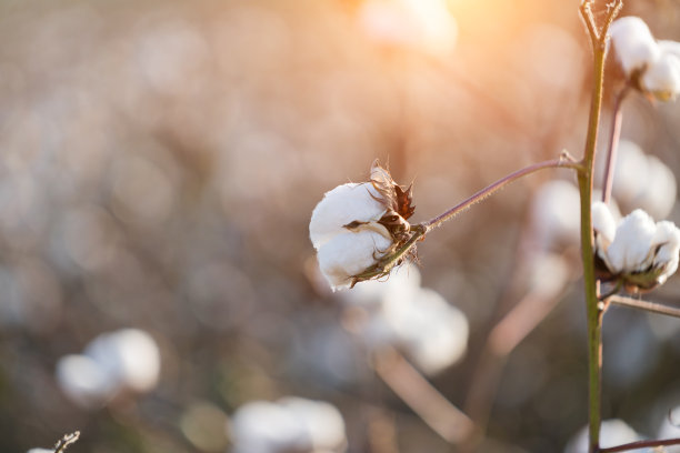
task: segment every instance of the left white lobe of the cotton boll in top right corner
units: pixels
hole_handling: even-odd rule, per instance
[[[647,23],[638,17],[617,19],[609,28],[617,60],[630,77],[657,60],[660,50]]]

